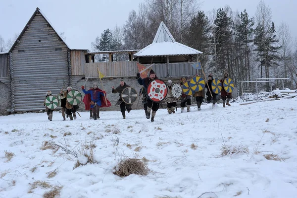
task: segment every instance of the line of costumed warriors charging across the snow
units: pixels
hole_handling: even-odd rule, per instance
[[[223,84],[224,80],[228,78],[228,73],[225,72],[224,76],[220,80],[221,83]],[[150,119],[151,122],[154,122],[154,118],[156,116],[156,112],[159,109],[160,103],[158,102],[153,102],[152,100],[149,99],[148,97],[148,85],[153,81],[158,79],[157,75],[155,72],[151,69],[149,72],[148,77],[141,78],[140,73],[137,73],[137,81],[140,85],[143,85],[139,92],[139,96],[143,96],[142,98],[142,103],[143,107],[145,110],[146,118]],[[183,86],[184,83],[189,81],[190,78],[181,78],[180,85]],[[216,99],[217,99],[217,94],[213,92],[211,88],[211,82],[213,80],[213,76],[210,74],[208,75],[208,80],[205,80],[205,87],[207,88],[206,96],[207,96],[207,103],[210,103],[212,100],[212,107],[215,106]],[[171,86],[172,86],[172,80],[167,81],[167,95],[164,101],[167,103],[167,111],[168,114],[175,114],[176,109],[177,109],[177,102],[178,99],[173,97],[171,93]],[[127,111],[130,113],[132,110],[132,105],[133,104],[128,104],[123,101],[122,99],[122,92],[125,88],[130,87],[127,85],[123,80],[120,81],[119,86],[116,88],[114,86],[111,87],[111,92],[112,93],[119,93],[120,98],[116,102],[116,106],[120,106],[120,111],[122,113],[123,119],[126,119],[126,114],[125,112]],[[85,110],[90,111],[90,119],[97,120],[100,118],[99,113],[100,113],[100,108],[101,107],[110,107],[111,103],[107,100],[106,98],[106,92],[104,90],[101,90],[98,88],[98,83],[93,83],[93,87],[90,87],[90,89],[87,91],[85,89],[85,86],[82,86],[82,91],[85,93],[85,97],[83,99],[83,102],[85,103]],[[59,93],[60,95],[60,106],[61,106],[61,113],[63,117],[63,121],[66,120],[66,117],[70,118],[70,120],[76,120],[76,112],[79,108],[78,105],[71,105],[67,101],[67,94],[72,90],[72,87],[67,87],[66,91],[62,91]],[[198,111],[201,110],[201,104],[204,100],[204,88],[201,91],[195,92],[193,94],[193,97],[196,98],[197,101],[197,107]],[[51,96],[51,91],[47,92],[47,96]],[[228,93],[225,91],[224,88],[221,90],[221,97],[223,100],[223,107],[225,107],[225,104],[230,106],[230,99],[232,98],[232,94]],[[227,102],[226,102],[227,100]],[[44,103],[44,106],[46,106],[46,102]],[[190,112],[190,107],[191,107],[191,96],[186,95],[185,93],[182,93],[181,95],[181,112],[184,112],[184,109],[187,108],[187,112]],[[49,109],[46,107],[46,112],[48,115],[49,121],[52,121],[52,112],[53,110]],[[65,117],[66,116],[66,117]]]

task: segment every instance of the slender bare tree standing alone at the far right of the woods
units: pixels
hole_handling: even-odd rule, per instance
[[[288,77],[287,61],[288,61],[288,53],[292,48],[291,46],[292,37],[291,37],[291,32],[289,30],[289,25],[284,21],[281,23],[281,25],[278,28],[278,37],[279,37],[279,43],[282,46],[282,61],[284,66],[284,74],[285,74],[285,78],[287,78]]]

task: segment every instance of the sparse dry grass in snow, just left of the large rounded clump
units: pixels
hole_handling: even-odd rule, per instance
[[[96,148],[96,141],[93,140],[89,144],[87,143],[82,143],[81,148],[79,150],[79,153],[81,156],[84,156],[87,158],[86,163],[82,163],[79,159],[75,162],[73,170],[76,169],[79,166],[84,166],[88,163],[94,164],[97,163],[97,161],[94,159],[94,153],[95,153],[95,148]]]

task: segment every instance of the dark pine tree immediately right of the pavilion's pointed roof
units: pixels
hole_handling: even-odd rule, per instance
[[[199,11],[196,16],[190,21],[189,33],[186,36],[185,42],[188,46],[203,52],[200,55],[200,62],[205,66],[208,60],[208,34],[210,26],[209,19],[203,11]]]

